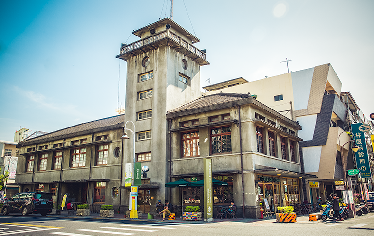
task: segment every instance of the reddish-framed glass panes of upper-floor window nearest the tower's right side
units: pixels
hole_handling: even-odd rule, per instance
[[[199,130],[182,133],[182,157],[200,156]]]

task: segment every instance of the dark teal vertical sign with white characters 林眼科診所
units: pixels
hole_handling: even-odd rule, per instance
[[[352,124],[352,133],[358,146],[358,151],[356,152],[356,163],[357,169],[360,170],[362,178],[371,178],[372,174],[370,172],[368,151],[366,149],[366,140],[364,132],[367,131],[367,125],[362,125],[362,123]]]

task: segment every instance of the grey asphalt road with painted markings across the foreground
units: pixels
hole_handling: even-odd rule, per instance
[[[303,221],[304,220],[304,221]],[[0,236],[342,236],[374,235],[374,213],[343,222],[333,220],[297,223],[274,223],[274,220],[251,222],[221,221],[209,223],[116,220],[69,217],[41,217],[14,214],[0,216]]]

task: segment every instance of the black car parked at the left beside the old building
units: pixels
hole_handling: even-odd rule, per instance
[[[2,214],[22,213],[23,216],[40,213],[46,216],[52,211],[52,194],[45,192],[18,193],[2,206]]]

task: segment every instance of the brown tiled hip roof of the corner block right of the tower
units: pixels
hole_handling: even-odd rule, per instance
[[[250,93],[243,94],[243,93],[220,92],[220,93],[216,93],[216,94],[212,94],[208,96],[203,95],[195,100],[182,104],[181,106],[177,108],[169,110],[168,113],[178,112],[182,110],[209,107],[209,106],[216,105],[216,104],[238,101],[238,100],[242,100],[242,99],[250,98],[250,97],[251,97]]]

